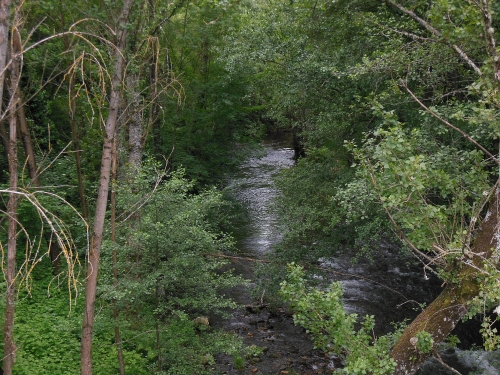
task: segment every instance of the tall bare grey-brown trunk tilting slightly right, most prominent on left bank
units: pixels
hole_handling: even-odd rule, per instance
[[[127,21],[133,6],[134,0],[124,0],[122,10],[117,23],[117,43],[115,51],[114,74],[111,82],[111,97],[109,102],[108,118],[105,124],[105,139],[102,150],[102,162],[99,189],[97,192],[96,212],[92,243],[88,259],[87,282],[85,285],[85,307],[83,312],[82,329],[82,350],[81,365],[82,375],[92,374],[92,330],[94,326],[94,309],[97,289],[97,273],[99,269],[99,258],[101,244],[104,233],[104,221],[109,192],[109,180],[111,173],[111,161],[113,154],[113,138],[115,136],[118,112],[122,99],[121,84],[123,82],[123,72],[125,60],[125,40],[127,37]]]

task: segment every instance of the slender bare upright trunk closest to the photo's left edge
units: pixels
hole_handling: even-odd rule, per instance
[[[16,11],[16,20],[19,13]],[[17,26],[17,25],[16,25]],[[10,66],[10,107],[9,111],[9,202],[7,212],[9,216],[8,242],[7,242],[7,269],[5,270],[5,281],[7,282],[5,326],[4,326],[4,374],[12,375],[12,369],[16,361],[16,346],[14,344],[14,312],[15,312],[15,281],[16,281],[16,247],[17,247],[17,116],[16,109],[19,101],[18,84],[21,66],[21,36],[16,27],[12,30],[12,64]]]

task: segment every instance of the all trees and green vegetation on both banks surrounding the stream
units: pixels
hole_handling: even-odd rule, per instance
[[[367,371],[415,372],[477,314],[498,348],[497,8],[0,2],[4,373],[202,374],[217,353],[241,358],[206,325],[243,282],[221,261],[233,220],[213,186],[244,157],[235,145],[277,130],[297,164],[277,179],[284,236],[261,270],[276,292],[287,263],[374,257],[390,238],[444,287]],[[335,306],[318,318],[354,332]]]

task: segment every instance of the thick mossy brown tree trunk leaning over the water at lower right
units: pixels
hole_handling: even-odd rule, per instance
[[[391,357],[397,363],[395,375],[411,375],[429,354],[420,353],[415,345],[416,334],[426,331],[435,344],[442,342],[467,313],[467,302],[478,295],[484,260],[500,247],[500,188],[496,188],[470,256],[465,256],[458,274],[458,283],[449,283],[441,294],[406,328],[394,346]],[[467,259],[469,258],[469,259]]]

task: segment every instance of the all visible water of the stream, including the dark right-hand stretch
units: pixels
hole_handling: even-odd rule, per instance
[[[255,280],[255,261],[272,251],[281,239],[275,206],[277,190],[273,176],[294,164],[293,149],[287,139],[270,139],[249,156],[239,171],[228,178],[228,191],[247,208],[248,216],[235,234],[241,258],[233,262],[237,273]],[[413,319],[421,303],[429,303],[439,293],[437,279],[425,275],[421,266],[390,243],[374,249],[375,261],[361,260],[353,264],[354,250],[346,249],[335,258],[324,260],[330,280],[338,280],[344,289],[344,304],[359,316],[374,315],[376,334],[392,330],[391,322]],[[431,276],[431,277],[429,277]],[[216,320],[215,326],[240,335],[246,345],[264,348],[264,353],[236,369],[231,358],[218,358],[219,370],[226,374],[317,374],[331,373],[339,365],[337,358],[325,357],[313,350],[303,329],[293,325],[283,309],[268,311],[253,306],[250,287],[235,288],[230,295],[245,306],[229,319]],[[281,311],[281,312],[280,312]],[[456,359],[453,353],[450,362]],[[470,362],[470,361],[469,361]],[[446,374],[438,364],[428,365],[426,374]],[[462,366],[469,373],[470,366]],[[424,372],[422,372],[423,374]],[[489,372],[488,372],[489,373]]]

